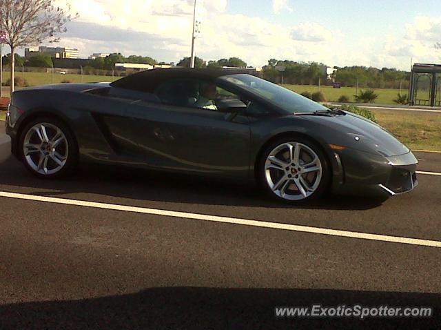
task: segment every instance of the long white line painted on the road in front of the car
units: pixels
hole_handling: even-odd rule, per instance
[[[64,199],[64,198],[25,195],[25,194],[19,194],[19,193],[8,193],[6,191],[0,191],[0,197],[8,197],[8,198],[14,198],[14,199],[19,199],[19,200],[32,200],[32,201],[37,201],[37,202],[48,202],[48,203],[54,203],[54,204],[85,206],[85,207],[92,207],[92,208],[101,208],[101,209],[105,209],[105,210],[144,213],[144,214],[150,214],[150,215],[161,215],[161,216],[165,216],[165,217],[179,217],[179,218],[184,218],[184,219],[220,222],[220,223],[225,223],[225,224],[239,224],[239,225],[243,225],[243,226],[254,226],[254,227],[260,227],[260,228],[282,229],[285,231],[298,231],[298,232],[302,232],[302,233],[316,233],[316,234],[322,234],[322,235],[350,237],[350,238],[358,238],[361,240],[374,240],[374,241],[381,241],[381,242],[393,242],[393,243],[400,243],[400,244],[411,244],[411,245],[431,246],[431,247],[441,248],[440,241],[421,240],[418,238],[378,235],[378,234],[370,234],[370,233],[358,233],[355,231],[339,231],[336,229],[326,229],[326,228],[311,227],[311,226],[298,226],[296,224],[280,224],[277,222],[246,220],[246,219],[238,219],[235,217],[220,217],[217,215],[205,215],[205,214],[198,214],[198,213],[166,211],[166,210],[160,210],[160,209],[156,209],[156,208],[143,208],[143,207],[126,206],[126,205],[118,205],[118,204],[105,204],[105,203],[98,203],[98,202],[88,202],[88,201],[83,201],[83,200],[68,200],[68,199]]]

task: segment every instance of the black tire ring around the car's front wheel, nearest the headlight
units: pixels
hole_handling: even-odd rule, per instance
[[[269,156],[271,151],[274,151],[274,149],[276,149],[280,145],[291,142],[304,144],[305,146],[311,148],[311,150],[316,153],[318,159],[320,159],[320,163],[322,166],[320,183],[318,184],[316,190],[314,191],[314,193],[312,193],[308,197],[304,197],[301,200],[287,200],[274,193],[274,191],[269,186],[269,183],[267,182],[265,173],[265,163],[267,162],[267,157]],[[327,191],[329,190],[329,184],[331,182],[331,166],[329,165],[329,161],[325,156],[325,153],[323,153],[322,148],[318,146],[318,144],[316,144],[314,141],[311,141],[311,139],[295,135],[291,137],[280,137],[279,139],[275,139],[273,142],[271,142],[268,146],[265,147],[265,150],[260,153],[260,158],[258,159],[256,168],[256,180],[263,191],[265,191],[265,193],[270,197],[288,204],[302,204],[305,202],[311,202],[312,200],[318,200],[320,199],[320,197],[325,195],[325,193],[327,193]]]

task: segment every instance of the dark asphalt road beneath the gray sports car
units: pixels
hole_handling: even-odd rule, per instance
[[[419,171],[441,172],[441,154],[416,155]],[[0,192],[441,241],[441,176],[419,182],[385,201],[328,197],[294,208],[213,179],[82,168],[45,182],[15,159],[0,164]],[[440,253],[0,197],[0,329],[440,329]],[[435,316],[274,317],[274,307],[313,303],[430,306]]]

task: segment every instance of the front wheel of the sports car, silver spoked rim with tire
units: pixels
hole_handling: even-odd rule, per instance
[[[295,203],[322,195],[329,175],[326,159],[315,144],[292,140],[269,146],[260,181],[274,197]]]

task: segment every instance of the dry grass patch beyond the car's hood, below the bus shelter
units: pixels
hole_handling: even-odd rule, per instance
[[[441,113],[371,110],[378,124],[411,149],[441,151]]]

